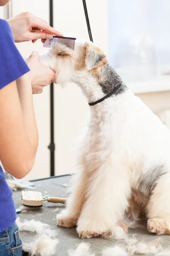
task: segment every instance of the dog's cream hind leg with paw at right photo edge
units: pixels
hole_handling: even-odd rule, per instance
[[[162,175],[147,205],[147,229],[158,235],[170,235],[170,172]]]

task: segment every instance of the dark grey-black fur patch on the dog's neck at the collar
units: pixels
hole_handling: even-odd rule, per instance
[[[102,91],[105,94],[108,94],[116,88],[116,86],[122,81],[120,76],[116,73],[116,71],[109,64],[106,64],[103,67],[103,72],[101,75],[101,80],[99,81],[99,85],[102,87]],[[122,82],[120,88],[117,93],[123,93],[127,90],[126,85]]]

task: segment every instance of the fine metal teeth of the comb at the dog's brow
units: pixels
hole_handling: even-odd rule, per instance
[[[57,44],[63,44],[66,47],[74,50],[76,38],[68,38],[64,36],[56,36],[53,38],[44,39],[43,47],[54,48]]]

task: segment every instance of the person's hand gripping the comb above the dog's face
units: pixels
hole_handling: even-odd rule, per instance
[[[30,12],[23,12],[7,21],[12,29],[16,43],[25,41],[35,43],[39,38],[43,42],[45,38],[53,38],[53,34],[63,36],[62,33],[49,26],[45,20],[34,16]]]

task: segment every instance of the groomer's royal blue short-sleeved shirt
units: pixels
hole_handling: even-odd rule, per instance
[[[28,71],[26,62],[14,44],[14,37],[8,22],[0,19],[0,90]],[[0,166],[0,232],[10,227],[16,217],[12,189],[6,183]]]

